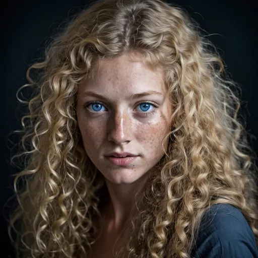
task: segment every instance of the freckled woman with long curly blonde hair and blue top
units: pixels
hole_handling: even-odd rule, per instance
[[[256,170],[212,47],[159,0],[96,2],[56,36],[28,70],[19,257],[258,257]]]

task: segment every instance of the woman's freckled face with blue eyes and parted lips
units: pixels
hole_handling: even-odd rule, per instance
[[[115,184],[141,180],[164,155],[161,142],[170,130],[163,74],[127,54],[102,60],[93,72],[79,85],[76,107],[86,153]]]

